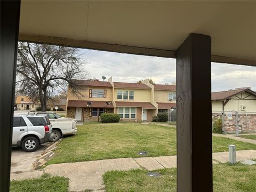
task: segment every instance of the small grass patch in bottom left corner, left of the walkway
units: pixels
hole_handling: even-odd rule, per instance
[[[52,191],[68,191],[68,179],[64,177],[51,177],[44,174],[35,179],[25,179],[21,181],[11,181],[11,192],[52,192]]]

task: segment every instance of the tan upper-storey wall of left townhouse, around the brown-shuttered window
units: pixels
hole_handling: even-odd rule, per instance
[[[106,98],[89,98],[89,90],[107,90],[107,97]],[[68,89],[67,98],[69,100],[90,100],[90,101],[112,101],[112,87],[93,87],[93,86],[81,86],[81,93],[83,97],[77,97],[76,95],[72,94],[70,89]]]

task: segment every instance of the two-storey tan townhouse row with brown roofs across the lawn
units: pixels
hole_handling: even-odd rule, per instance
[[[117,113],[124,121],[151,121],[153,115],[176,108],[176,86],[108,81],[77,81],[84,97],[68,89],[66,116],[98,121],[102,113]]]

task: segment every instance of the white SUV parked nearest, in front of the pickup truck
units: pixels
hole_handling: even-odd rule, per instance
[[[52,140],[52,125],[46,115],[14,115],[12,146],[21,146],[27,152]]]

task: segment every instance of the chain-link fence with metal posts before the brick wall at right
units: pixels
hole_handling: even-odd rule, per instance
[[[212,122],[219,118],[223,133],[256,132],[256,112],[212,111]]]

